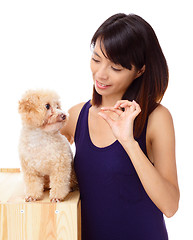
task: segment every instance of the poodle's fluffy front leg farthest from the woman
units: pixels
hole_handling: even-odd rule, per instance
[[[43,195],[43,178],[35,174],[24,174],[25,181],[25,201],[32,202],[40,200]]]

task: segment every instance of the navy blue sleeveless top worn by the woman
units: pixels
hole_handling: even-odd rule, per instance
[[[119,141],[99,148],[89,135],[88,101],[76,126],[74,167],[80,187],[82,240],[167,240],[162,212],[145,192]],[[146,151],[146,126],[136,139]]]

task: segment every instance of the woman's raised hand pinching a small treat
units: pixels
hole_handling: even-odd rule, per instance
[[[122,111],[121,108],[124,108],[125,111]],[[106,112],[113,112],[117,117],[113,119]],[[140,112],[141,108],[134,100],[132,102],[120,100],[114,107],[101,108],[98,114],[109,124],[116,139],[122,143],[134,141],[133,123]]]

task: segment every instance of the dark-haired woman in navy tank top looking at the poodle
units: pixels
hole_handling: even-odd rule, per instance
[[[92,100],[69,110],[82,240],[166,240],[178,209],[172,117],[160,104],[168,68],[151,26],[116,14],[92,41]]]

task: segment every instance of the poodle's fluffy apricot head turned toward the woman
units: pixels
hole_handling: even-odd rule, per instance
[[[19,113],[25,125],[44,131],[58,131],[67,118],[59,96],[50,90],[28,90],[19,101]]]

